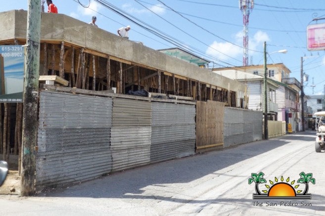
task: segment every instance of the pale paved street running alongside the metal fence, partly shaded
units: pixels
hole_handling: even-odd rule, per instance
[[[116,173],[35,197],[2,195],[0,214],[324,216],[325,153],[315,152],[314,140],[315,131],[307,131]],[[276,183],[275,177],[281,181],[283,176],[283,181],[295,180],[293,186],[300,190],[305,186],[297,183],[299,173],[313,173],[316,184],[310,182],[308,191],[312,199],[259,200],[263,206],[254,206],[255,183],[249,185],[248,178],[261,171],[270,186],[269,180]],[[260,190],[267,188],[262,184]]]

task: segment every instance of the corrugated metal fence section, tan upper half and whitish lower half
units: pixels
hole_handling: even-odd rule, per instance
[[[150,163],[151,103],[113,99],[111,150],[113,171]]]

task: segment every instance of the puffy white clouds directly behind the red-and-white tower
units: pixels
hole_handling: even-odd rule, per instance
[[[243,32],[237,32],[234,36],[234,43],[238,44],[239,46],[242,46],[243,43]],[[228,41],[231,41],[231,39],[227,39]],[[258,31],[255,33],[255,35],[249,39],[249,47],[250,50],[257,50],[257,47],[262,45],[264,42],[270,41],[269,36],[262,31]],[[243,48],[239,47],[237,45],[234,45],[229,42],[216,42],[214,41],[210,47],[206,50],[206,53],[212,56],[215,56],[222,60],[229,60],[232,58],[238,58],[239,55],[243,54]],[[212,47],[212,48],[211,48]],[[216,49],[216,50],[215,50]],[[218,51],[217,51],[218,50]],[[223,54],[224,53],[224,54]],[[249,55],[256,54],[253,51],[249,51]],[[228,57],[228,56],[231,57]]]

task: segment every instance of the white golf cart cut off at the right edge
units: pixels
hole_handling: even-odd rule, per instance
[[[315,150],[316,152],[321,152],[325,150],[325,111],[316,112],[315,128],[316,128],[316,142]]]

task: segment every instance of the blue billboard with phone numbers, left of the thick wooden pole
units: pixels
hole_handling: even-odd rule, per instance
[[[0,45],[0,103],[23,102],[24,48]]]

